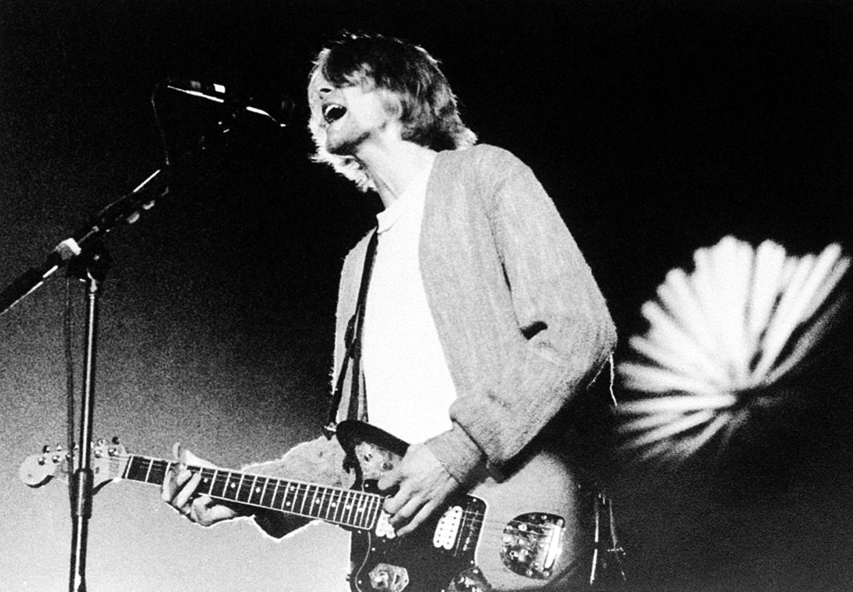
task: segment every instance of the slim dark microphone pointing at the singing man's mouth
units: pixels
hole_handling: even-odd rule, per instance
[[[291,98],[275,91],[264,90],[263,95],[258,96],[258,93],[237,92],[233,87],[225,84],[180,78],[167,78],[165,87],[185,95],[231,105],[236,111],[246,111],[271,119],[279,127],[286,127],[293,113]]]

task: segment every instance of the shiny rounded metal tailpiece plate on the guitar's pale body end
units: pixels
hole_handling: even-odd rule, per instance
[[[560,555],[566,521],[554,514],[522,514],[503,529],[501,560],[521,576],[547,579]]]

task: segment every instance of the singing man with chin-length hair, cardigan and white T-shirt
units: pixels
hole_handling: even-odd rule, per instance
[[[384,206],[345,258],[332,384],[339,420],[411,443],[378,484],[404,537],[486,476],[511,478],[530,450],[571,456],[580,443],[554,434],[566,433],[567,404],[592,396],[615,328],[537,178],[506,150],[474,145],[427,51],[345,35],[317,56],[308,101],[315,160]],[[348,486],[343,461],[320,436],[247,470]],[[199,496],[198,473],[175,473],[163,499],[200,525],[254,513],[281,537],[305,524]]]

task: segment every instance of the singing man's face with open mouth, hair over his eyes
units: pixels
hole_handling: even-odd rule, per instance
[[[308,86],[310,128],[330,154],[357,156],[392,121],[386,93],[373,84],[336,86],[317,70]]]

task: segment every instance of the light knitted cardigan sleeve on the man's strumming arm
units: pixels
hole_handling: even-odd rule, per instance
[[[505,352],[502,363],[460,393],[452,429],[428,442],[460,482],[484,459],[500,470],[516,456],[595,379],[616,343],[605,299],[554,203],[526,165],[502,154],[481,203],[518,331],[492,345]]]

